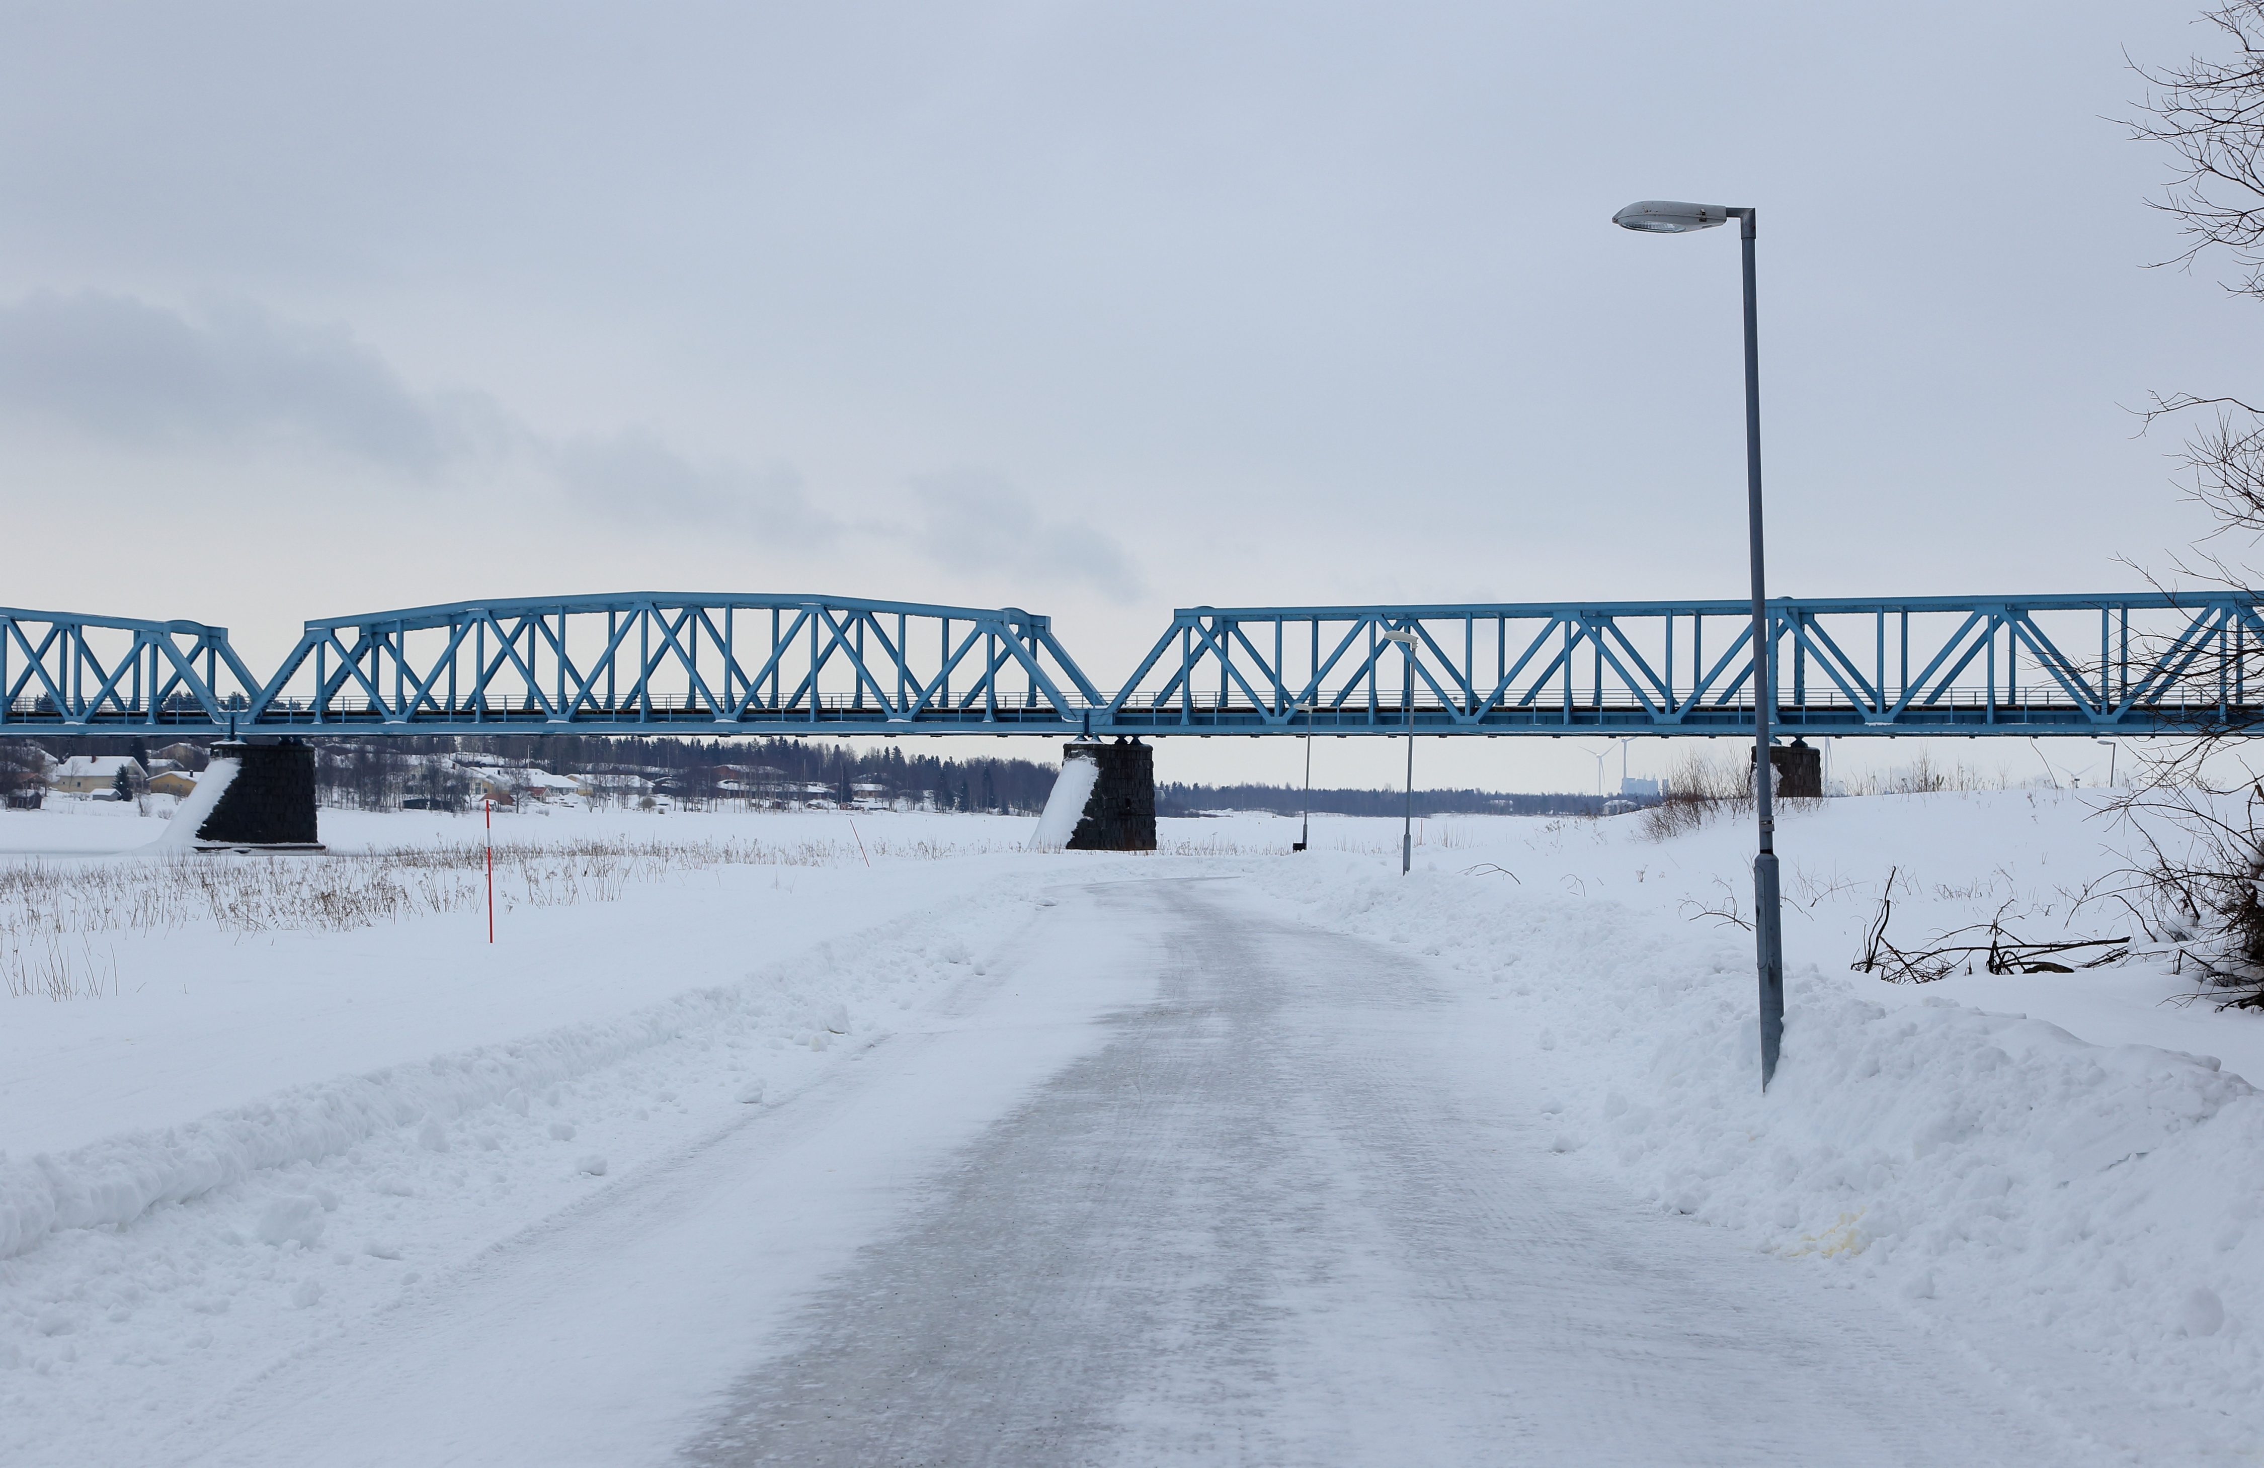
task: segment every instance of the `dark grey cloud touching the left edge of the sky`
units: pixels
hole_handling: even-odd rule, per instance
[[[412,391],[342,328],[100,292],[0,305],[0,412],[129,448],[285,437],[412,473],[466,452],[482,416],[473,398]]]

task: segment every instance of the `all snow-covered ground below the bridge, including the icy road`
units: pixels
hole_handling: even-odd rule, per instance
[[[1433,826],[1401,880],[1354,821],[702,821],[770,846],[528,857],[494,955],[417,866],[430,912],[120,930],[106,998],[9,1000],[0,1461],[2264,1448],[2257,1016],[1845,973],[1888,864],[1920,927],[2056,907],[2115,860],[2081,801],[1786,821],[1766,1099],[1739,830]]]

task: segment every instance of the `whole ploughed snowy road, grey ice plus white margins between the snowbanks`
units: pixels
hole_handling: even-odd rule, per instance
[[[955,1022],[430,1280],[195,1463],[2081,1463],[1637,1208],[1404,948],[1064,891]],[[1098,964],[1084,955],[1098,952]]]

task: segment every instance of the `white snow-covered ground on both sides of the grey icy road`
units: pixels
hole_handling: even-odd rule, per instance
[[[1723,916],[1750,907],[1739,823],[1426,821],[1401,878],[1397,823],[1338,817],[1297,857],[1275,817],[1164,821],[1155,857],[1026,853],[1035,821],[1001,817],[498,817],[489,945],[478,817],[324,812],[340,855],[206,857],[224,880],[190,889],[179,857],[134,850],[161,823],[127,808],[5,812],[5,871],[54,878],[5,889],[18,973],[77,966],[102,993],[0,998],[0,1461],[204,1461],[260,1382],[446,1307],[514,1240],[573,1235],[600,1199],[706,1206],[684,1178],[718,1149],[752,1169],[740,1224],[770,1240],[783,1310],[878,1237],[906,1178],[1143,1000],[1096,957],[1137,952],[1137,927],[1078,927],[1064,893],[1186,875],[1232,878],[1207,891],[1252,925],[1352,934],[1440,986],[1422,1022],[1499,1056],[1472,1083],[1530,1117],[1521,1165],[1789,1289],[1850,1287],[2110,1457],[2253,1461],[2264,1102],[2244,1077],[2264,1079],[2264,1016],[2185,1002],[2158,961],[1847,970],[1888,871],[1904,943],[1999,912],[2031,939],[2119,934],[2069,916],[2121,864],[2094,798],[1791,812],[1766,1099],[1750,936]],[[423,855],[367,855],[394,848]],[[68,896],[97,871],[106,896]],[[276,896],[321,882],[317,905]],[[140,891],[170,896],[120,896]],[[675,1396],[573,1461],[666,1461],[706,1402],[681,1355],[758,1355],[779,1316],[734,1319],[677,1341]],[[607,1323],[586,1325],[557,1350],[600,1350]],[[478,1443],[460,1461],[505,1461]]]

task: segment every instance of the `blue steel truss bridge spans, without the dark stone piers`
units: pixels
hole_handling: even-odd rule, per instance
[[[1777,599],[1784,735],[2194,735],[2264,715],[2259,597]],[[1019,608],[634,593],[229,631],[0,608],[0,733],[1750,735],[1748,602],[1191,606],[1114,688]]]

